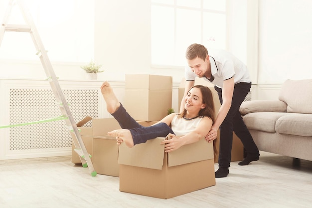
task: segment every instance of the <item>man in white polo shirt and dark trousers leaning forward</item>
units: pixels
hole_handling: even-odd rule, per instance
[[[221,107],[205,140],[211,142],[216,139],[217,130],[220,128],[219,169],[215,172],[215,176],[216,178],[227,177],[231,162],[233,131],[242,141],[247,152],[246,158],[238,163],[239,165],[248,165],[252,161],[259,160],[260,156],[239,113],[239,107],[251,87],[247,67],[225,50],[215,51],[210,56],[207,48],[196,43],[187,48],[186,59],[184,97],[194,86],[196,76],[214,84],[218,92]],[[180,109],[183,110],[182,103]]]

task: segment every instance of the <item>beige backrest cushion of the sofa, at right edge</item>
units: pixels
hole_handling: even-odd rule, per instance
[[[312,79],[286,80],[279,100],[287,103],[287,112],[312,114]]]

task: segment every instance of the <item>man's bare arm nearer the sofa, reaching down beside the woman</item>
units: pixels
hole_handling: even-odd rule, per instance
[[[232,97],[234,92],[234,77],[225,80],[222,86],[222,105],[216,116],[215,122],[213,123],[210,132],[205,137],[205,140],[210,142],[217,138],[217,131],[225,119],[227,113],[232,105]]]

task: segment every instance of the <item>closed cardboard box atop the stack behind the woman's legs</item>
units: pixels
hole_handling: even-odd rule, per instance
[[[159,121],[172,107],[172,77],[149,74],[126,75],[123,105],[137,121]]]

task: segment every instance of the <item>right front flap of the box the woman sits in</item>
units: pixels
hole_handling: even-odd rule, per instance
[[[168,167],[213,159],[213,142],[201,139],[168,153]]]

